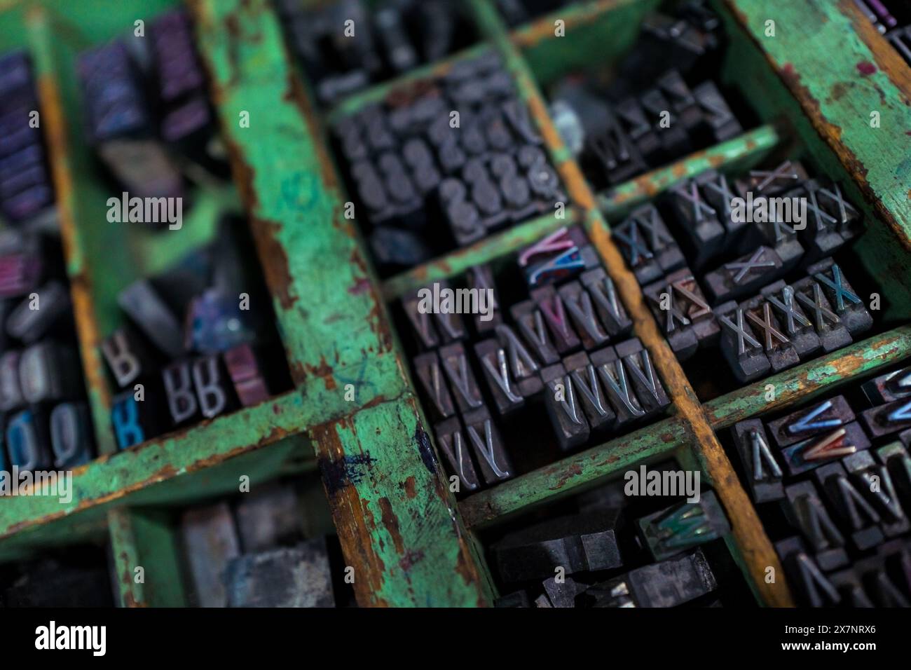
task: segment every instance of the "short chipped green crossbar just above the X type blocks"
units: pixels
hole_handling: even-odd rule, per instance
[[[726,173],[749,170],[778,147],[781,141],[782,137],[773,125],[760,126],[604,191],[599,194],[599,206],[605,217],[616,221],[633,207],[705,170],[721,170]]]

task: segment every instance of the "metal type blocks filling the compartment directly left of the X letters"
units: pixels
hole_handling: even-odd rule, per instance
[[[543,405],[559,448],[569,450],[670,405],[648,350],[630,339],[630,317],[580,227],[562,228],[521,251],[513,269],[521,271],[528,298],[509,306],[486,265],[469,270],[469,289],[437,283],[403,299],[412,335],[425,350],[413,359],[418,388],[462,490],[515,474],[508,436],[501,437],[495,417]],[[439,300],[446,292],[471,291],[492,296],[486,314],[471,314],[474,335],[455,312],[461,307]],[[430,308],[434,303],[441,309]]]

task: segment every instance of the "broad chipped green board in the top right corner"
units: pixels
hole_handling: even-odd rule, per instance
[[[875,28],[852,0],[794,3],[731,0],[817,132],[838,153],[865,195],[881,203],[911,249],[911,69],[891,48],[874,52]],[[775,36],[765,22],[775,21]],[[880,43],[886,46],[885,41]],[[871,128],[870,113],[880,113]]]

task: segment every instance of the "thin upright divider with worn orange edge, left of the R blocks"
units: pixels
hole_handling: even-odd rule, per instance
[[[92,411],[92,423],[97,449],[102,454],[114,453],[117,446],[110,426],[111,395],[105,369],[98,354],[101,335],[95,320],[95,301],[91,280],[86,272],[84,242],[76,222],[73,166],[67,140],[67,119],[60,99],[59,73],[51,57],[50,17],[40,6],[32,6],[26,15],[32,54],[38,73],[38,96],[45,117],[44,134],[47,159],[56,191],[60,236],[67,262],[73,318],[76,324],[79,356],[85,376],[86,390]]]

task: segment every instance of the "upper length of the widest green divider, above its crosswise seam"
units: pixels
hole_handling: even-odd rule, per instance
[[[374,273],[344,218],[346,199],[271,4],[189,7],[292,377],[307,398],[305,422],[400,396],[407,381]]]

